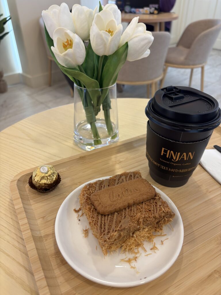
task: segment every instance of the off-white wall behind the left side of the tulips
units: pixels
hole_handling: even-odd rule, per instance
[[[22,65],[22,80],[31,87],[47,85],[48,60],[39,27],[42,10],[52,4],[60,5],[62,0],[8,0],[12,17],[15,39]],[[66,0],[71,8],[80,0]],[[53,64],[54,83],[63,78],[62,73]]]

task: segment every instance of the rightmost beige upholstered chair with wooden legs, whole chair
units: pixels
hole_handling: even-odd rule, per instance
[[[191,69],[189,86],[191,86],[193,69],[201,68],[200,90],[203,91],[204,65],[220,30],[221,19],[202,19],[189,24],[177,46],[168,49],[161,87],[168,67]]]

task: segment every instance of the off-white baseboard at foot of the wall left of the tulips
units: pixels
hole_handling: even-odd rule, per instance
[[[52,71],[52,85],[53,83],[58,83],[63,81],[64,75],[62,74],[62,71],[56,70]],[[22,82],[32,88],[37,88],[41,86],[48,85],[48,73],[44,73],[37,76],[30,76],[26,73],[22,73]]]

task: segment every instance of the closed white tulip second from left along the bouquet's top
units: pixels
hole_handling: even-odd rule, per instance
[[[93,11],[80,4],[73,5],[71,12],[72,20],[75,26],[75,33],[81,40],[88,41],[90,39],[90,27],[96,13],[98,13],[97,6]]]

